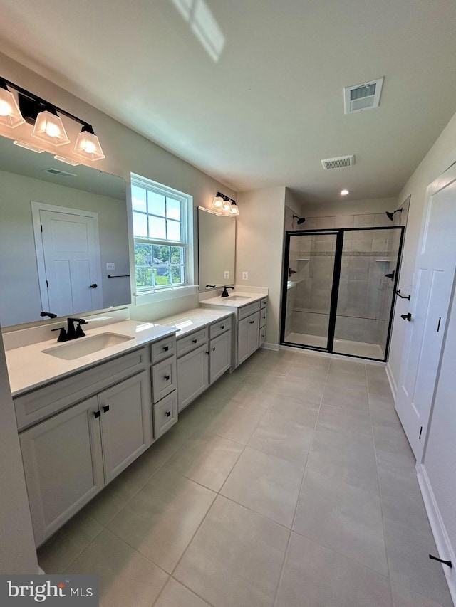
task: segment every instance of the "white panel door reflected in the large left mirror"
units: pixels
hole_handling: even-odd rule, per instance
[[[32,203],[43,310],[67,316],[103,307],[97,213]]]

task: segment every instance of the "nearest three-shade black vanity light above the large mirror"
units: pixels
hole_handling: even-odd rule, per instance
[[[18,102],[9,89],[16,90]],[[23,125],[24,122],[33,125],[31,137],[41,139],[48,144],[59,147],[71,143],[66,134],[65,127],[59,114],[71,118],[81,125],[73,154],[86,160],[100,160],[105,158],[98,137],[93,128],[73,114],[62,110],[61,107],[41,99],[30,91],[11,83],[5,78],[0,78],[0,124],[14,129]],[[21,142],[18,142],[21,144]],[[26,147],[26,146],[24,146]],[[33,146],[28,147],[33,149]],[[37,148],[38,150],[39,148]],[[42,150],[40,150],[42,151]],[[63,159],[63,157],[60,157]],[[64,162],[66,159],[64,159]],[[68,159],[69,161],[69,159]],[[72,163],[76,164],[76,163]]]

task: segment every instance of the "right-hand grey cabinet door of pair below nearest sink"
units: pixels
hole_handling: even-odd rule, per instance
[[[143,371],[98,395],[108,484],[152,443],[150,375]]]

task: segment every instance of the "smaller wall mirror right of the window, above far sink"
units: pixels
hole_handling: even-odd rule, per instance
[[[236,220],[198,209],[199,290],[234,284]]]

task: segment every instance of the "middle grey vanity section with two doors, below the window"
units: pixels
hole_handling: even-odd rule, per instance
[[[230,368],[231,328],[231,317],[225,317],[177,339],[179,411]]]

